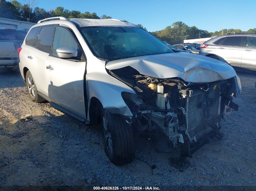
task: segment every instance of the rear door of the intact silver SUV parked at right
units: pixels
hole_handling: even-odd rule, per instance
[[[215,54],[223,58],[232,66],[241,66],[242,36],[226,37],[216,47]]]

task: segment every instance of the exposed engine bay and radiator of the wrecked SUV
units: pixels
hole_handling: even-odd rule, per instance
[[[148,130],[149,136],[150,132],[159,130],[171,148],[180,148],[187,156],[211,138],[221,138],[221,118],[238,110],[232,101],[236,96],[234,78],[208,83],[159,79],[142,75],[131,66],[109,73],[136,92],[122,92],[133,113],[130,123],[138,131]]]

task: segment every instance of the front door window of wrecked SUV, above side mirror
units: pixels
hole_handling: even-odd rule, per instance
[[[52,44],[52,56],[58,56],[56,49],[63,47],[72,47],[78,49],[78,44],[67,29],[56,27]]]

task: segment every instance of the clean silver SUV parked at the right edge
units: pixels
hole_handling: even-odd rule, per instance
[[[200,55],[256,71],[256,34],[226,34],[212,38],[201,45]]]

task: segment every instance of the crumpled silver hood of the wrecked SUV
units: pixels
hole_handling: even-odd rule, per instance
[[[155,78],[179,77],[187,82],[198,83],[225,80],[236,75],[234,69],[224,62],[189,53],[138,56],[106,64],[108,70],[125,66],[131,66],[141,74]]]

